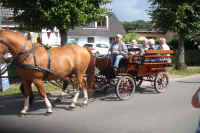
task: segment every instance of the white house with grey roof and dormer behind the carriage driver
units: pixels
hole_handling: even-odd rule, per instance
[[[98,22],[69,30],[68,42],[76,41],[81,46],[85,43],[111,44],[116,34],[125,34],[125,30],[114,13],[110,12]]]

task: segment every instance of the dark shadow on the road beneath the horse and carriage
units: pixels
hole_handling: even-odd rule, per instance
[[[152,87],[137,88],[135,93],[141,94],[156,94],[155,90]],[[35,100],[33,105],[30,106],[29,112],[27,115],[46,115],[45,111],[46,106],[42,98],[38,93],[34,94]],[[59,96],[48,95],[49,100],[51,101],[53,108],[67,110],[67,106],[71,104],[72,96],[68,95],[59,101]],[[83,98],[81,95],[80,98]],[[82,99],[80,100],[82,102]],[[109,89],[105,91],[97,91],[94,96],[89,98],[89,104],[95,101],[120,101],[116,96],[114,89]],[[19,112],[23,108],[24,97],[22,95],[12,95],[12,96],[2,96],[0,97],[0,116],[1,115],[19,115]],[[77,103],[78,107],[82,107],[82,103]],[[41,110],[41,111],[40,111]],[[36,112],[37,111],[37,112]],[[44,113],[43,113],[44,112]]]

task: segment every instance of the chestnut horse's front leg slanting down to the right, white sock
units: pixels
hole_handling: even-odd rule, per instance
[[[36,85],[41,97],[44,99],[45,101],[45,104],[47,106],[47,113],[52,113],[52,105],[49,101],[49,99],[47,98],[47,95],[46,95],[46,92],[44,90],[44,85],[43,85],[43,82],[42,80],[34,80],[33,83]]]

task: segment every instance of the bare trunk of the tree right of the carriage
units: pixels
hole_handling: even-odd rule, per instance
[[[187,66],[185,64],[185,49],[184,49],[184,35],[179,34],[178,42],[178,62],[176,64],[176,69],[186,70]]]

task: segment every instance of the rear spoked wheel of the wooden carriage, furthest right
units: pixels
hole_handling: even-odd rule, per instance
[[[164,93],[167,89],[168,83],[169,83],[168,75],[164,72],[158,73],[154,81],[155,90],[158,93]]]

